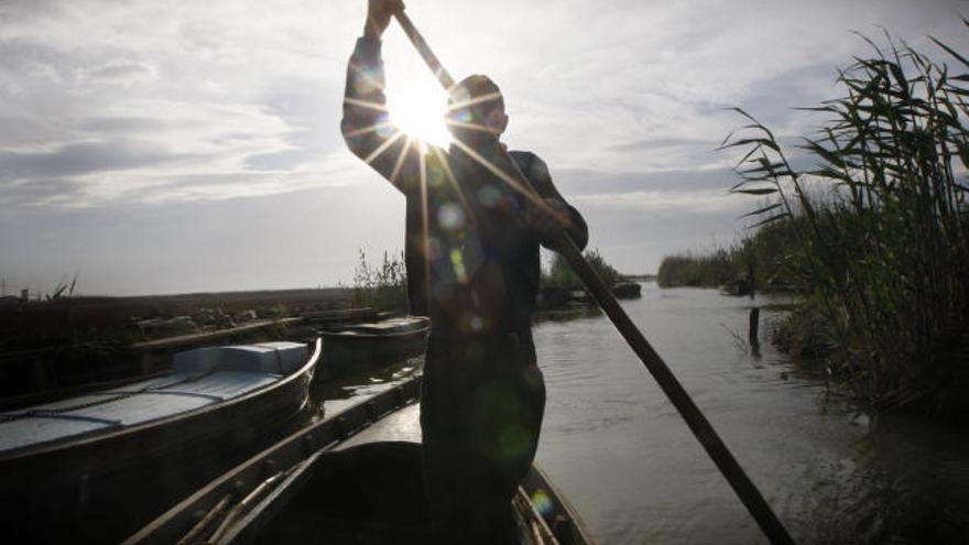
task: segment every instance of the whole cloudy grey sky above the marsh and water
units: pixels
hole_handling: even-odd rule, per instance
[[[446,8],[446,9],[445,9]],[[882,29],[967,51],[965,0],[411,0],[456,77],[487,74],[625,273],[733,242],[751,197],[716,149],[742,107],[785,142]],[[364,0],[0,0],[8,294],[331,286],[403,248],[404,201],[339,133]],[[391,115],[440,138],[436,80],[392,25]],[[941,58],[941,55],[938,55]],[[416,118],[416,119],[414,119]],[[429,119],[429,121],[428,121]],[[429,123],[429,124],[428,124]]]

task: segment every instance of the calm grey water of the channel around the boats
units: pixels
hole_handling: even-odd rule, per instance
[[[756,299],[754,304],[770,303]],[[873,422],[747,337],[748,298],[643,284],[624,307],[798,543],[969,543],[969,437]],[[772,319],[762,313],[762,323]],[[602,316],[535,326],[548,390],[538,461],[600,545],[766,543]],[[418,359],[315,392],[328,414]]]

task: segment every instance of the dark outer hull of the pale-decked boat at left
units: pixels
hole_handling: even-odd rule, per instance
[[[117,543],[304,424],[319,356],[236,399],[0,457],[0,526],[11,543]]]

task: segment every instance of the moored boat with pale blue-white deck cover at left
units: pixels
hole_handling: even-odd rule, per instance
[[[119,542],[304,425],[320,351],[199,348],[164,377],[0,413],[4,541]]]

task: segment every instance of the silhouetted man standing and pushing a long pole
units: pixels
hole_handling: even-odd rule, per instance
[[[542,160],[504,152],[508,116],[489,78],[471,76],[450,90],[447,150],[388,122],[380,39],[399,10],[401,0],[369,0],[341,129],[350,150],[406,197],[411,313],[431,317],[421,428],[435,536],[514,544],[511,500],[534,458],[545,405],[531,335],[538,246],[554,249],[567,227],[581,248],[588,232]],[[514,188],[509,156],[538,197]]]

